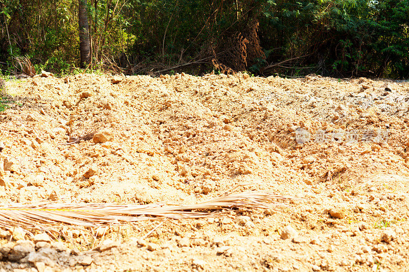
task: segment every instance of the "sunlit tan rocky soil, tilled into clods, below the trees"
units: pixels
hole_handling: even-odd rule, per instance
[[[408,270],[407,82],[43,73],[6,86],[3,204],[188,204],[240,184],[301,200],[62,228],[69,239],[0,229],[0,271]]]

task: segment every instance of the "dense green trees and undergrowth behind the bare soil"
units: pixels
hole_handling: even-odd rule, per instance
[[[2,1],[3,75],[31,62],[57,75],[83,67],[409,78],[409,0]]]

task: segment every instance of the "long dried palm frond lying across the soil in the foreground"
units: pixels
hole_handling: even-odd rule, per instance
[[[0,206],[0,227],[48,229],[61,225],[98,227],[152,219],[201,218],[222,214],[223,209],[266,209],[286,207],[282,201],[294,200],[262,191],[226,192],[213,199],[185,206],[165,203],[149,205],[43,203]],[[280,202],[281,201],[281,202]]]

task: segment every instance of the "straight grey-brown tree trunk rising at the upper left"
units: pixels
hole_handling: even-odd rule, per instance
[[[91,62],[91,46],[89,43],[86,1],[87,0],[78,0],[78,27],[80,36],[81,67],[86,67],[86,65]]]

